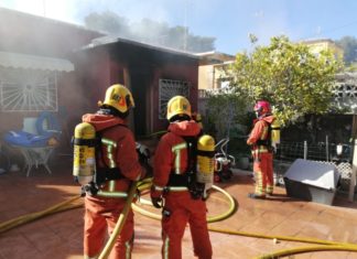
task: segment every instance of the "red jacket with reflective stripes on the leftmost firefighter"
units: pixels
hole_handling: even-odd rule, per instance
[[[141,168],[136,141],[132,132],[127,127],[127,122],[119,117],[111,115],[87,114],[83,116],[84,122],[91,123],[96,131],[101,131],[101,153],[102,159],[97,160],[97,164],[105,164],[109,168],[119,168],[125,179],[116,180],[111,184],[111,191],[125,192],[129,188],[130,181],[139,180],[144,170]],[[118,172],[119,173],[119,172]],[[107,182],[102,190],[109,191]],[[115,187],[112,187],[115,186]]]

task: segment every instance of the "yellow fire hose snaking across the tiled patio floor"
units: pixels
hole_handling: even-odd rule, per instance
[[[131,204],[137,188],[142,192],[147,188],[150,188],[150,186],[151,186],[150,180],[144,180],[142,182],[133,183],[131,185],[129,195],[128,195],[128,199],[127,199],[127,204],[126,204],[121,215],[119,216],[118,223],[115,227],[112,235],[108,239],[102,252],[99,256],[100,259],[108,257],[108,255],[113,246],[113,240],[117,238],[117,236],[120,234],[120,231],[122,229],[122,226],[127,218],[127,214],[129,212],[130,205],[132,206],[133,211],[136,211],[144,216],[148,216],[153,219],[161,218],[161,216],[158,214],[150,213],[150,212],[141,208],[137,204]],[[218,186],[214,185],[213,187],[216,191],[221,192],[227,197],[230,206],[226,213],[218,215],[218,216],[208,217],[207,218],[208,223],[224,220],[224,219],[228,218],[229,216],[231,216],[237,209],[237,203],[229,195],[229,193],[219,188]],[[1,223],[0,224],[0,235],[17,227],[17,226],[33,222],[33,220],[42,218],[44,216],[64,212],[67,209],[78,208],[78,207],[83,206],[82,203],[76,203],[77,199],[79,199],[79,196],[75,196],[68,201],[65,201],[57,205],[51,206],[42,212],[23,215],[18,218],[13,218],[8,222]],[[151,202],[142,199],[142,198],[141,198],[141,203],[142,204],[151,204]],[[313,252],[313,251],[327,251],[327,250],[357,252],[357,245],[348,244],[348,242],[338,242],[338,241],[328,241],[328,240],[321,240],[321,239],[314,239],[314,238],[299,238],[299,237],[289,237],[289,236],[270,236],[270,235],[262,235],[262,234],[235,231],[235,230],[230,230],[230,229],[220,229],[220,228],[214,228],[214,227],[208,227],[208,229],[210,231],[221,233],[221,234],[227,234],[227,235],[238,235],[238,236],[246,236],[246,237],[252,237],[252,238],[264,238],[264,239],[307,242],[307,244],[315,245],[315,246],[303,246],[303,247],[298,247],[298,248],[282,249],[282,250],[278,250],[278,251],[274,251],[271,253],[261,255],[261,256],[257,257],[257,259],[280,258],[280,257],[286,257],[286,256],[296,255],[296,253]]]

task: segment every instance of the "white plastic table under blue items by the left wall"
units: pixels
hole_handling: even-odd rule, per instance
[[[52,174],[47,162],[55,147],[46,145],[40,148],[30,148],[30,147],[21,147],[21,145],[13,145],[13,144],[12,147],[20,150],[20,152],[24,157],[25,166],[23,170],[26,170],[28,177],[30,175],[31,169],[33,166],[37,169],[39,165],[43,165],[47,170],[47,172]]]

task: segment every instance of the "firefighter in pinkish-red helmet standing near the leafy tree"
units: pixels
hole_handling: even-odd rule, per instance
[[[257,101],[255,106],[257,119],[253,121],[247,144],[251,145],[253,172],[256,179],[255,193],[250,198],[266,198],[273,193],[273,148],[271,145],[271,115],[270,104],[266,100]]]

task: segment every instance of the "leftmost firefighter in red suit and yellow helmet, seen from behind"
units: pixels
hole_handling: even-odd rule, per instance
[[[96,114],[83,116],[100,136],[96,155],[96,180],[83,185],[85,191],[84,255],[97,258],[111,234],[126,204],[132,181],[145,175],[136,150],[136,141],[126,118],[134,106],[131,93],[122,85],[112,85]],[[133,213],[129,212],[109,258],[130,258],[133,244]]]

